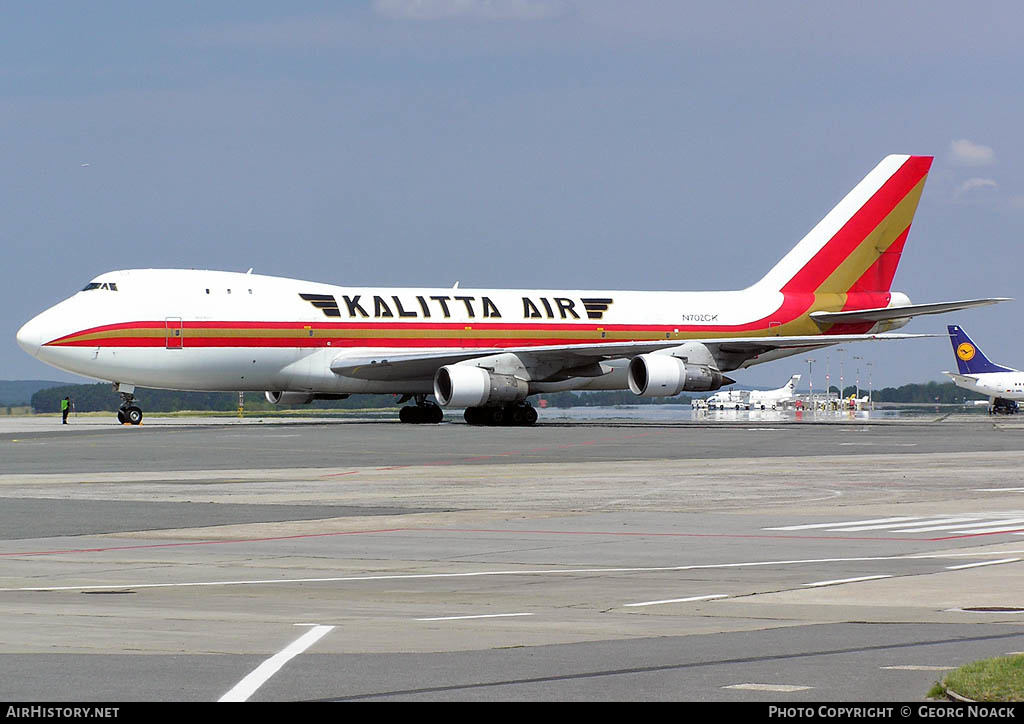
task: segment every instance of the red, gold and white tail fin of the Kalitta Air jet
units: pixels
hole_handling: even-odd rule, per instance
[[[931,167],[931,156],[887,156],[756,286],[888,293]]]

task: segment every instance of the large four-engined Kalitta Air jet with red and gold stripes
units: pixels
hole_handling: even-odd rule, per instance
[[[135,387],[265,391],[295,404],[395,393],[403,422],[530,425],[530,395],[716,390],[725,373],[885,334],[918,314],[1001,298],[911,304],[891,292],[932,165],[889,156],[757,284],[728,292],[376,289],[185,269],[111,271],[17,333],[30,354]],[[694,253],[693,251],[687,253]],[[680,260],[683,251],[680,251]],[[644,250],[621,261],[662,263]],[[436,403],[428,400],[433,395]]]

